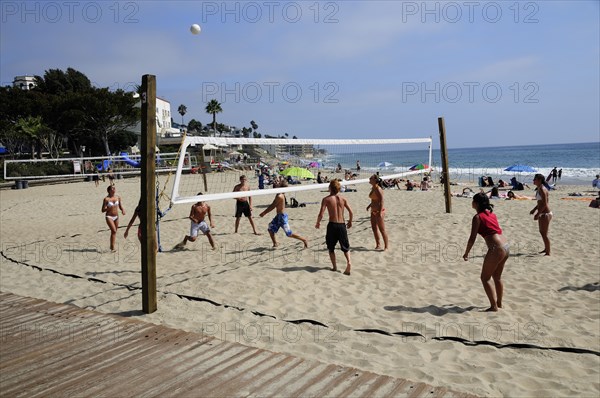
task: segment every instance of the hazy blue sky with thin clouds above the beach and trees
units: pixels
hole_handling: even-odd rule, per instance
[[[157,77],[191,118],[299,138],[450,148],[600,141],[598,1],[1,3],[0,82],[75,68]],[[202,26],[192,35],[193,23]],[[436,145],[437,147],[437,145]]]

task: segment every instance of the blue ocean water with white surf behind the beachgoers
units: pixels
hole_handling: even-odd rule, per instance
[[[330,150],[330,148],[326,148]],[[417,163],[427,163],[428,149],[390,150],[389,147],[372,148],[369,152],[334,152],[322,159],[326,168],[335,168],[341,163],[343,168],[356,169],[360,160],[362,171],[379,171],[380,174],[392,174],[407,171]],[[439,149],[432,153],[434,178],[441,170]],[[388,167],[379,167],[381,162],[391,163]],[[590,185],[596,174],[600,173],[600,141],[578,144],[552,144],[531,146],[503,146],[488,148],[462,148],[448,150],[450,179],[457,182],[477,182],[480,176],[492,176],[510,179],[516,176],[519,181],[531,182],[535,173],[514,173],[504,171],[514,164],[533,167],[538,173],[548,176],[553,167],[562,169],[559,184]]]

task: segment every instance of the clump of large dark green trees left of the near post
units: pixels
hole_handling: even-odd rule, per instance
[[[32,90],[0,87],[0,140],[13,154],[31,141],[38,155],[45,148],[51,156],[58,156],[63,138],[76,156],[83,145],[109,154],[131,142],[124,131],[137,124],[140,112],[131,93],[95,88],[72,68],[49,69],[36,83]]]

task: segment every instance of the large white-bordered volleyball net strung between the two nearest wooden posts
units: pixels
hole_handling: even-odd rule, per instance
[[[173,183],[173,204],[274,193],[326,190],[431,172],[432,139],[278,139],[185,137]],[[250,190],[232,192],[244,175]],[[272,188],[275,178],[287,187]],[[202,194],[201,196],[199,194]]]

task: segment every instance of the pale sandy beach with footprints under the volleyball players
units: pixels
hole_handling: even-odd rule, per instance
[[[139,179],[116,181],[126,210],[116,253],[100,212],[106,186],[0,191],[0,290],[481,396],[600,393],[600,210],[588,207],[585,198],[597,195],[591,187],[550,193],[552,256],[537,254],[543,244],[529,215],[533,200],[492,201],[511,243],[497,313],[483,312],[481,237],[470,260],[462,259],[471,200],[452,198],[447,214],[440,186],[384,191],[386,252],[374,250],[369,186],[344,194],[355,212],[351,276],[329,271],[325,228],[314,228],[315,202],[325,192],[301,192],[296,199],[306,207],[288,209],[292,230],[309,241],[305,250],[281,231],[279,247],[271,247],[266,229],[274,214],[258,217],[271,195],[254,199],[261,236],[245,219],[234,234],[234,200],[216,201],[209,204],[218,249],[201,236],[174,250],[189,232],[190,207],[177,205],[160,224],[158,311],[145,315],[137,228],[123,238]]]

